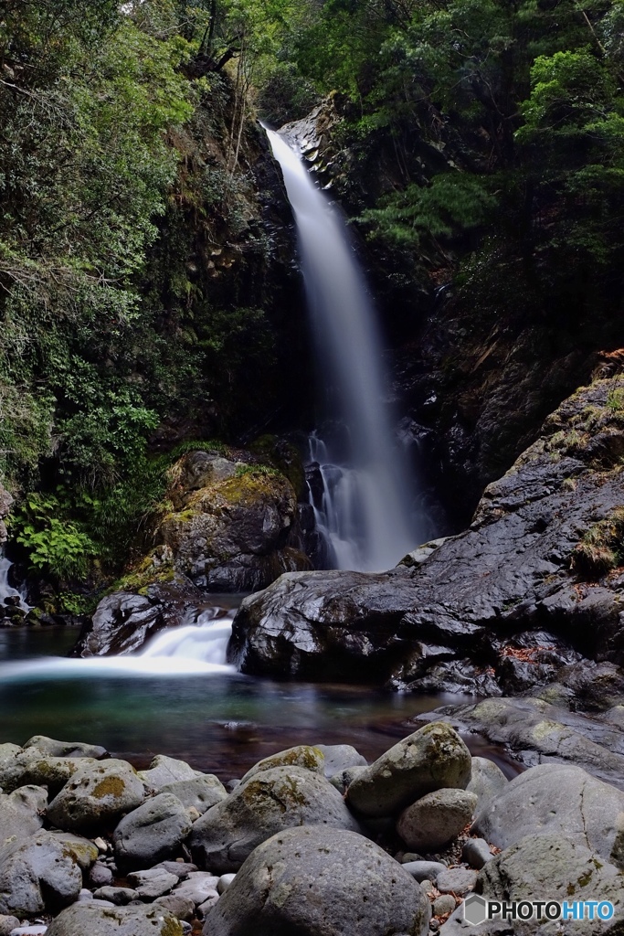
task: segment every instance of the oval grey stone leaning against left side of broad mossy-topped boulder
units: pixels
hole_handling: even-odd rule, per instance
[[[152,868],[175,853],[191,831],[188,812],[178,797],[159,793],[123,817],[112,837],[122,869]]]

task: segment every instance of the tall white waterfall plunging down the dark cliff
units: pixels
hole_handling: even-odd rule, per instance
[[[346,430],[348,453],[338,457],[315,436],[325,491],[313,504],[339,568],[387,569],[419,542],[408,473],[394,445],[385,407],[382,343],[362,273],[339,213],[312,181],[279,133],[268,130],[280,163],[297,237],[312,327],[332,416]]]

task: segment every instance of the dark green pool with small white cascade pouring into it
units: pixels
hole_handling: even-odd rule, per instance
[[[164,631],[138,655],[86,660],[62,655],[73,628],[1,630],[0,743],[89,741],[137,768],[165,753],[225,781],[294,744],[353,744],[372,760],[414,731],[415,715],[467,701],[242,676],[225,665],[231,620]],[[518,771],[501,750],[466,740],[508,775]]]

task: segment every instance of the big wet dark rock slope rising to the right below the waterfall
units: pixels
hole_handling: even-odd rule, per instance
[[[466,532],[379,575],[296,573],[248,599],[248,673],[516,693],[581,658],[624,662],[624,378],[582,388],[490,485]]]

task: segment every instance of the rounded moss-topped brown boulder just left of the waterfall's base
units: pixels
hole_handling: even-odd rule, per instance
[[[201,588],[251,592],[283,572],[311,567],[297,549],[297,493],[275,469],[189,452],[171,470],[166,500],[173,509],[159,519],[155,542]]]

